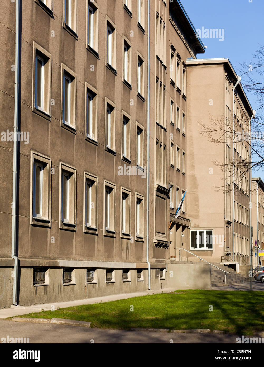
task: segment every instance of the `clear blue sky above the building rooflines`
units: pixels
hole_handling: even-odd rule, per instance
[[[197,58],[229,58],[236,73],[240,63],[251,65],[252,54],[264,45],[264,0],[180,0],[195,29],[224,29],[224,40],[201,38],[207,46]],[[243,78],[243,77],[242,77]],[[253,95],[247,93],[253,109]],[[253,172],[264,180],[264,172]]]

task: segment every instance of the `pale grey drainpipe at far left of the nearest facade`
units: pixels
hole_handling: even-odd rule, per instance
[[[14,259],[13,305],[17,302],[18,290],[18,257],[16,255],[17,230],[17,161],[18,161],[18,92],[19,92],[19,14],[20,0],[16,1],[16,29],[15,29],[15,106],[14,106],[14,151],[13,151],[13,195],[12,195],[12,259]]]

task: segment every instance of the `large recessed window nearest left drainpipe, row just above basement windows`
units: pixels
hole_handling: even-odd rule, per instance
[[[50,224],[51,161],[32,152],[31,224]]]

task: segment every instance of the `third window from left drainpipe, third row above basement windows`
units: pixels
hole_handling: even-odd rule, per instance
[[[88,0],[87,45],[98,52],[98,8],[91,0]]]

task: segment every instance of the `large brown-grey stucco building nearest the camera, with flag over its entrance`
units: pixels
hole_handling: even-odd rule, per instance
[[[0,17],[1,130],[21,132],[0,141],[0,307],[172,286],[186,59],[205,51],[180,1],[17,0]]]

